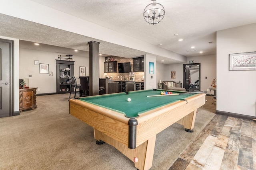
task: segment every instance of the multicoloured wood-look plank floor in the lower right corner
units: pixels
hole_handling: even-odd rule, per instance
[[[215,115],[169,170],[256,170],[256,122]]]

